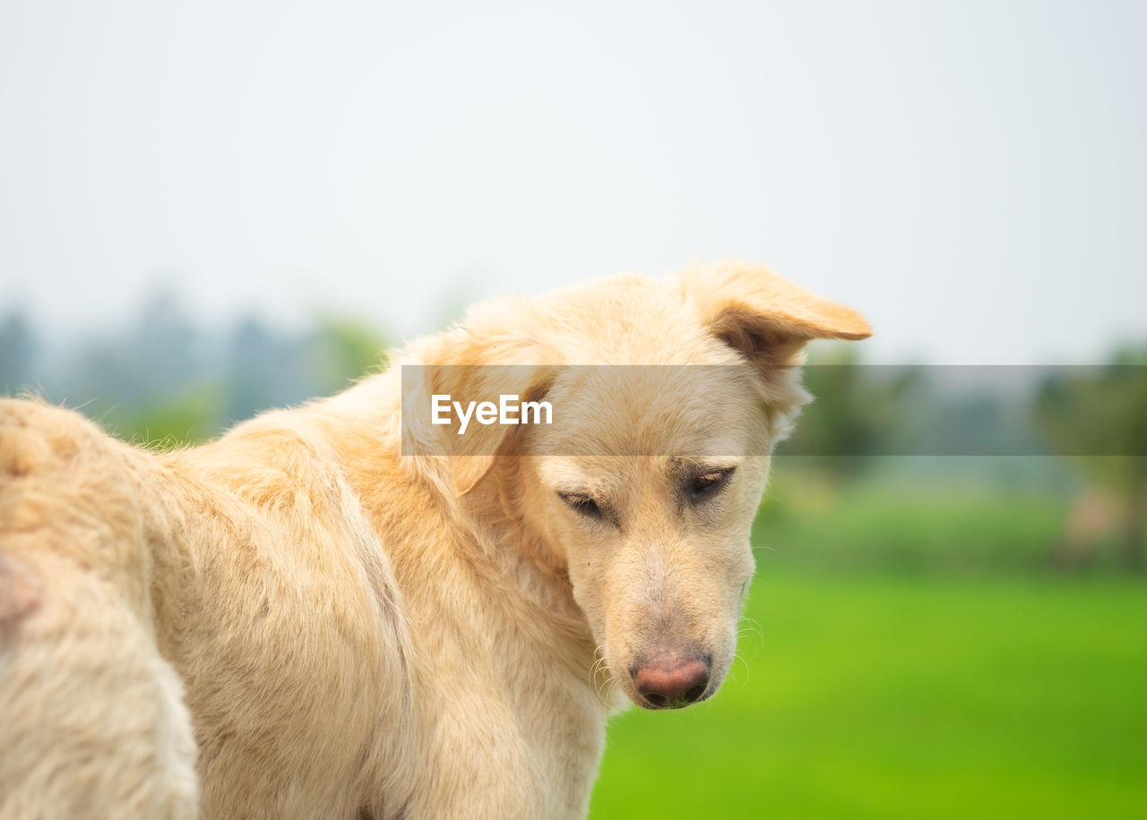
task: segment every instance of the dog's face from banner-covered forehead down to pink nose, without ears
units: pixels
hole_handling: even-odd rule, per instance
[[[749,378],[736,365],[571,369],[548,396],[572,419],[529,447],[585,455],[520,465],[528,526],[567,566],[599,646],[596,685],[646,708],[708,697],[732,663],[768,468]]]

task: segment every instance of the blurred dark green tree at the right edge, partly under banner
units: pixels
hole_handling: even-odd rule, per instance
[[[1117,498],[1123,565],[1145,568],[1147,538],[1147,346],[1126,347],[1107,366],[1061,368],[1036,396],[1037,425]]]

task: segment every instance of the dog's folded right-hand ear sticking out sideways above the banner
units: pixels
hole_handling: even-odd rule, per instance
[[[852,308],[810,293],[760,265],[720,262],[681,275],[702,324],[754,364],[797,364],[812,339],[866,339]]]

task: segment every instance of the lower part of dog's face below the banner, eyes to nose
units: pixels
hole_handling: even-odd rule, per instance
[[[545,464],[539,482],[601,683],[650,709],[704,700],[733,660],[765,459],[610,460]]]

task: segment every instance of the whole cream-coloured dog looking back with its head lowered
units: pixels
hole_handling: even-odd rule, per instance
[[[728,670],[802,348],[871,332],[723,262],[492,301],[196,448],[0,402],[0,817],[584,817],[607,716]]]

